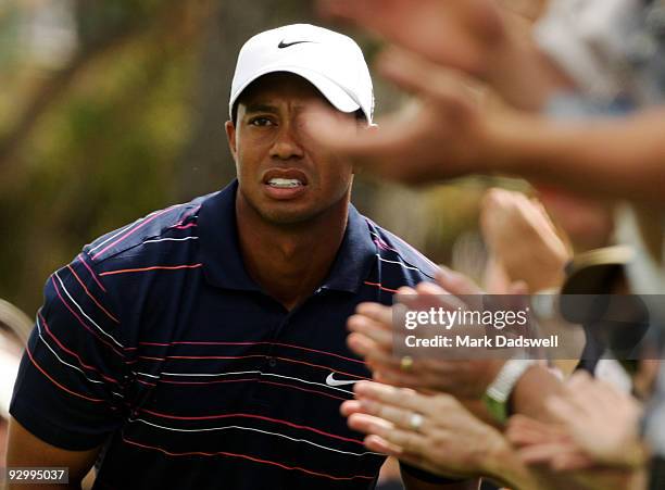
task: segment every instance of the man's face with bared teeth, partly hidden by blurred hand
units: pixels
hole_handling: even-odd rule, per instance
[[[240,98],[236,125],[226,123],[238,199],[268,223],[306,223],[349,199],[351,163],[324,152],[303,127],[308,111],[322,102],[304,78],[267,75]],[[353,115],[336,113],[357,124]]]

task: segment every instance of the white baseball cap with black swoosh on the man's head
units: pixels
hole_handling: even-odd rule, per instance
[[[339,111],[374,112],[372,77],[353,39],[310,24],[293,24],[258,34],[240,53],[231,84],[228,112],[242,91],[268,73],[288,72],[310,81]]]

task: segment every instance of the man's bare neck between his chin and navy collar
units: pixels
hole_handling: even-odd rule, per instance
[[[240,251],[250,277],[287,310],[309,298],[330,272],[341,246],[349,200],[303,224],[266,222],[236,199]]]

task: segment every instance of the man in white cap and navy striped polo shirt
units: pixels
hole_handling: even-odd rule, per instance
[[[237,181],[101,237],[48,280],[9,466],[67,466],[77,485],[97,461],[99,489],[374,487],[384,457],[339,414],[369,376],[344,323],[436,267],[350,205],[351,164],[302,131],[323,101],[372,123],[350,38],[293,25],[246,43],[226,123]]]

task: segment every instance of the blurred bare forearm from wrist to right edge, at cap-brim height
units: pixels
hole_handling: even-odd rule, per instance
[[[488,154],[494,155],[488,163],[495,172],[663,204],[665,109],[578,123],[526,114],[500,120],[491,124],[488,140]]]

